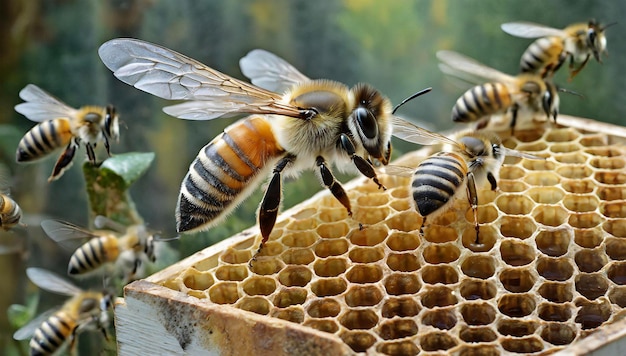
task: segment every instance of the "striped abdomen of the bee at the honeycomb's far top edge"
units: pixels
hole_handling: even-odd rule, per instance
[[[476,121],[508,109],[513,103],[504,83],[485,83],[466,91],[452,108],[455,122]]]

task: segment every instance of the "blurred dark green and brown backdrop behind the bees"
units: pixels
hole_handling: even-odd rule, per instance
[[[413,92],[433,91],[404,106],[401,114],[451,128],[450,110],[464,92],[437,68],[435,52],[453,49],[515,74],[531,40],[514,38],[499,25],[533,21],[557,28],[596,18],[606,24],[626,13],[623,1],[502,0],[4,0],[0,4],[0,158],[11,178],[5,183],[24,211],[26,228],[2,233],[0,350],[9,350],[12,330],[6,309],[29,294],[25,266],[64,273],[72,251],[60,249],[39,228],[44,218],[88,226],[84,149],[72,169],[47,183],[57,155],[17,165],[17,142],[34,123],[17,114],[18,92],[28,83],[67,104],[114,104],[122,120],[113,153],[155,152],[155,163],[132,188],[137,210],[153,229],[174,236],[174,208],[182,178],[199,149],[233,122],[194,122],[165,115],[168,103],[121,83],[100,62],[98,47],[116,37],[134,37],[172,48],[237,78],[239,58],[263,48],[285,58],[311,78],[353,85],[367,82],[398,103]],[[557,83],[585,95],[561,95],[561,112],[626,125],[626,40],[618,23],[607,30],[610,57],[594,60],[571,83],[566,70]],[[564,68],[565,69],[565,68]],[[396,142],[396,156],[415,149]],[[101,151],[99,157],[105,156]],[[342,181],[350,179],[341,176]],[[319,191],[304,173],[286,184],[283,208]],[[207,233],[184,236],[172,246],[182,258],[255,222],[261,192]],[[62,299],[49,301],[50,304]],[[1,353],[1,352],[0,352]]]

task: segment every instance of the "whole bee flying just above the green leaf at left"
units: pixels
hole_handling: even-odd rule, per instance
[[[20,98],[26,102],[16,105],[15,111],[39,124],[20,140],[17,162],[31,162],[65,147],[48,181],[59,179],[71,166],[81,142],[85,144],[89,161],[96,164],[96,145],[103,141],[110,155],[109,140],[119,139],[118,115],[111,105],[74,109],[33,84],[20,91]]]

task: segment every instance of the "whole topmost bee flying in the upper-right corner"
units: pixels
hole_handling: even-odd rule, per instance
[[[608,56],[604,30],[613,24],[603,27],[592,19],[588,23],[575,23],[562,30],[532,22],[508,22],[500,27],[513,36],[539,37],[522,54],[520,68],[523,73],[552,77],[569,58],[571,80],[585,67],[591,56],[599,63],[602,63],[602,54]],[[580,65],[575,67],[577,63]]]

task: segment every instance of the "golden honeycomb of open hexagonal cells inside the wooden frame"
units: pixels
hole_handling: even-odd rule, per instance
[[[383,175],[386,191],[349,185],[352,218],[326,192],[283,214],[251,266],[258,234],[153,281],[331,334],[350,353],[564,349],[626,307],[626,146],[569,127],[504,144],[547,159],[507,158],[499,190],[479,191],[478,244],[467,199],[421,235],[410,179]]]

